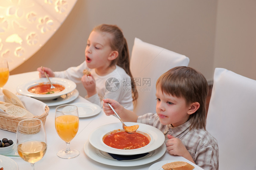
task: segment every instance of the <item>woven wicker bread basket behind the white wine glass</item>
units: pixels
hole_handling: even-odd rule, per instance
[[[43,124],[45,124],[46,117],[48,116],[49,113],[49,107],[46,105],[45,106],[45,112],[41,114],[40,116],[35,116],[34,118],[41,119]],[[8,130],[10,132],[15,132],[17,131],[18,123],[26,119],[27,117],[16,117],[16,116],[11,116],[9,114],[4,114],[0,113],[0,129],[3,130]]]

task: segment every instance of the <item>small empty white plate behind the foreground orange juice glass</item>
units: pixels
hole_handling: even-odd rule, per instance
[[[77,106],[79,117],[90,117],[99,114],[101,108],[93,103],[72,103],[72,105]]]

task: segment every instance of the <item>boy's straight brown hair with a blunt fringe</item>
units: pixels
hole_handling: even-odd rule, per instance
[[[205,129],[208,84],[202,73],[191,67],[174,67],[158,78],[156,88],[174,97],[185,98],[187,104],[198,102],[199,109],[189,117],[190,128]]]

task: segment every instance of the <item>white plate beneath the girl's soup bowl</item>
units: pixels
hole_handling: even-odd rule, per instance
[[[43,103],[47,106],[59,106],[68,102],[75,100],[79,96],[79,92],[75,89],[73,92],[70,92],[66,95],[62,95],[55,100],[45,100]]]

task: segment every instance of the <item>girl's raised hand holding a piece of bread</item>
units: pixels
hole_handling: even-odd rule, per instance
[[[91,97],[97,93],[96,81],[92,75],[83,75],[81,81],[87,91],[88,97]]]

